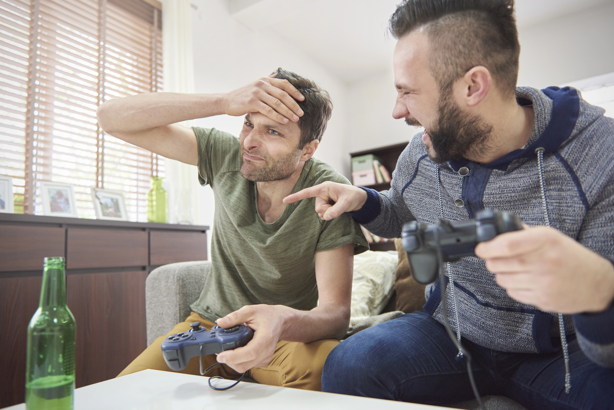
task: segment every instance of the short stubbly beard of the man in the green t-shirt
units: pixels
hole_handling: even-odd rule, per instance
[[[265,160],[266,166],[255,166],[253,161],[245,160],[243,154],[254,155]],[[271,158],[266,152],[251,151],[248,152],[241,145],[241,168],[239,173],[242,177],[255,182],[268,182],[288,179],[297,169],[298,158],[300,158],[300,150],[294,150],[287,153],[283,157]]]

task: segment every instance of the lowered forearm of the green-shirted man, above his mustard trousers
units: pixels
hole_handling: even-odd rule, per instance
[[[348,331],[350,309],[340,303],[321,304],[311,311],[279,306],[284,311],[280,340],[309,343],[341,339]]]

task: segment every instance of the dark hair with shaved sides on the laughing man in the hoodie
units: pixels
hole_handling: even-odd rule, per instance
[[[390,18],[397,39],[421,27],[429,37],[430,68],[441,90],[484,66],[504,96],[515,95],[520,44],[514,0],[405,0]]]

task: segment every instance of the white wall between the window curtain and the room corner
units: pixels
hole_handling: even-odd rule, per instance
[[[192,3],[198,7],[192,10],[196,93],[230,91],[269,75],[279,66],[315,80],[330,93],[334,110],[314,157],[347,174],[346,85],[292,44],[255,33],[239,23],[231,17],[225,0],[192,0]],[[192,123],[238,135],[243,118],[220,115]],[[211,188],[200,188],[198,204],[195,222],[212,226]]]

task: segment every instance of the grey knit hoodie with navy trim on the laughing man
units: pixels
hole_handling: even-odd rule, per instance
[[[410,220],[467,220],[484,207],[496,208],[527,225],[548,225],[549,220],[550,226],[614,261],[614,120],[569,87],[517,88],[516,98],[535,111],[524,149],[488,164],[462,159],[438,165],[418,135],[398,159],[391,190],[363,188],[367,203],[352,217],[379,236],[397,238]],[[539,163],[538,148],[543,148]],[[469,169],[467,176],[459,174],[462,167]],[[557,315],[510,298],[483,260],[463,258],[447,270],[453,282],[448,317],[462,338],[504,352],[561,349]],[[427,286],[426,298],[424,309],[441,322],[438,282]],[[614,367],[614,305],[597,314],[565,316],[564,323],[567,335],[577,331],[591,360]]]

